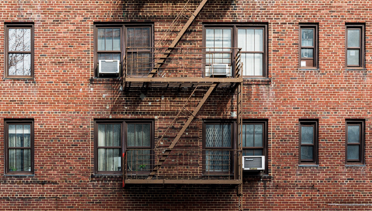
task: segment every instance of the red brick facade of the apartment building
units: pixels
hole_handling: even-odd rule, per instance
[[[243,119],[267,121],[268,171],[235,185],[127,185],[94,174],[94,121],[151,119],[155,142],[189,92],[123,91],[94,75],[94,24],[149,23],[157,43],[186,1],[5,1],[5,24],[34,26],[32,79],[0,65],[0,210],[371,210],[370,1],[209,0],[177,46],[202,47],[203,24],[267,25],[266,78],[243,81]],[[192,0],[195,10],[199,1]],[[182,19],[184,24],[186,19]],[[299,24],[318,26],[316,69],[299,68]],[[345,68],[346,24],[363,25],[365,68]],[[167,45],[182,28],[176,27]],[[5,40],[5,41],[4,41]],[[222,95],[222,96],[221,96]],[[212,94],[180,144],[202,148],[203,120],[234,119],[233,93]],[[6,174],[4,121],[34,123],[34,174]],[[317,165],[299,165],[299,120],[317,119]],[[345,163],[346,121],[365,122],[362,165]]]

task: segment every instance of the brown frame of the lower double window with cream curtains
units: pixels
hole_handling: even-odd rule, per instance
[[[150,147],[131,147],[128,146],[128,137],[127,137],[127,125],[128,124],[150,124]],[[118,147],[99,147],[98,146],[98,125],[99,124],[120,124],[121,125],[121,132],[120,132],[120,143],[121,146]],[[94,121],[94,174],[97,175],[117,175],[117,174],[122,174],[123,172],[123,162],[122,162],[122,155],[123,153],[126,153],[128,149],[130,148],[144,148],[150,150],[150,166],[149,168],[146,168],[144,171],[131,171],[127,168],[128,173],[130,174],[147,174],[149,173],[153,167],[154,167],[154,121],[153,120],[148,120],[148,119],[143,119],[143,120],[122,120],[122,119],[111,119],[111,120],[106,120],[106,119],[97,119]],[[121,170],[120,171],[99,171],[98,170],[98,149],[99,148],[120,148],[121,149]],[[128,164],[126,164],[128,167]]]

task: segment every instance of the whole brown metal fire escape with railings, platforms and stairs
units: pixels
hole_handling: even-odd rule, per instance
[[[169,46],[145,47],[149,54],[136,53],[140,49],[126,49],[124,58],[123,88],[129,90],[174,89],[189,91],[180,110],[168,127],[155,139],[153,164],[147,171],[128,169],[126,164],[132,152],[123,156],[123,186],[125,184],[230,184],[237,185],[241,192],[241,139],[242,139],[242,86],[240,49],[224,49],[230,55],[228,64],[214,62],[214,53],[203,47],[177,47],[187,29],[203,9],[208,0],[201,0],[195,11],[187,9],[189,1],[170,26],[173,30],[182,17],[188,20]],[[167,33],[160,40],[165,39]],[[151,55],[150,57],[148,55]],[[222,70],[222,72],[221,72]],[[205,169],[205,156],[198,147],[177,146],[185,131],[192,124],[209,96],[218,90],[232,90],[236,101],[237,147],[229,156],[232,174],[208,174]],[[235,106],[234,106],[235,107]],[[174,132],[174,128],[179,129]],[[159,136],[160,136],[159,135]],[[136,151],[136,153],[141,151]],[[139,158],[140,155],[134,155]],[[222,165],[222,164],[221,164]],[[224,167],[223,167],[224,168]],[[222,171],[222,170],[221,170]],[[240,189],[240,191],[239,191]]]

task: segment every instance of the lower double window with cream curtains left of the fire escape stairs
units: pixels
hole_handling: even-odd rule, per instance
[[[124,152],[128,171],[151,169],[154,143],[152,121],[96,121],[94,132],[96,174],[120,174]]]

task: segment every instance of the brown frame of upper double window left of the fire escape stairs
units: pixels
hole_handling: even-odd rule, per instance
[[[94,78],[117,78],[122,77],[122,73],[124,70],[124,57],[126,52],[126,46],[127,46],[127,35],[126,30],[128,28],[149,28],[150,29],[150,50],[145,49],[144,52],[150,52],[153,53],[153,47],[154,47],[154,24],[150,23],[128,23],[128,24],[104,24],[104,23],[96,23],[94,24],[94,30],[93,30],[93,39],[94,39]],[[98,50],[98,29],[110,29],[110,28],[119,28],[120,29],[120,50]],[[98,53],[120,53],[120,67],[119,67],[119,75],[117,74],[99,74],[99,59],[98,59]],[[151,57],[151,56],[150,56]],[[152,65],[152,61],[150,61]],[[150,67],[151,67],[150,65]],[[150,72],[149,72],[150,73]]]

